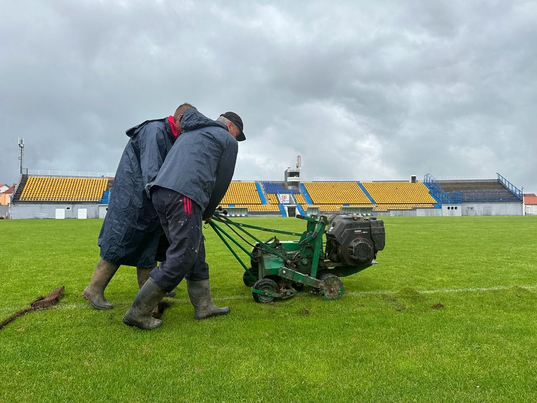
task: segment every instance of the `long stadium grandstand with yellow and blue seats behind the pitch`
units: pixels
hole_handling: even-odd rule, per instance
[[[26,171],[14,188],[9,218],[104,218],[114,191],[108,174],[50,175]],[[522,215],[523,195],[502,175],[440,181],[232,181],[221,206],[232,216],[296,214]],[[527,208],[526,208],[526,211]]]

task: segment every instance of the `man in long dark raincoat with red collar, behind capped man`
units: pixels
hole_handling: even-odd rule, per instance
[[[101,260],[90,284],[82,292],[82,297],[95,308],[112,309],[104,290],[120,265],[136,267],[141,287],[156,261],[165,260],[169,244],[145,188],[157,177],[166,155],[182,132],[179,120],[190,108],[195,109],[191,104],[179,105],[173,116],[146,120],[126,132],[130,140],[115,172],[108,211],[98,239]]]

